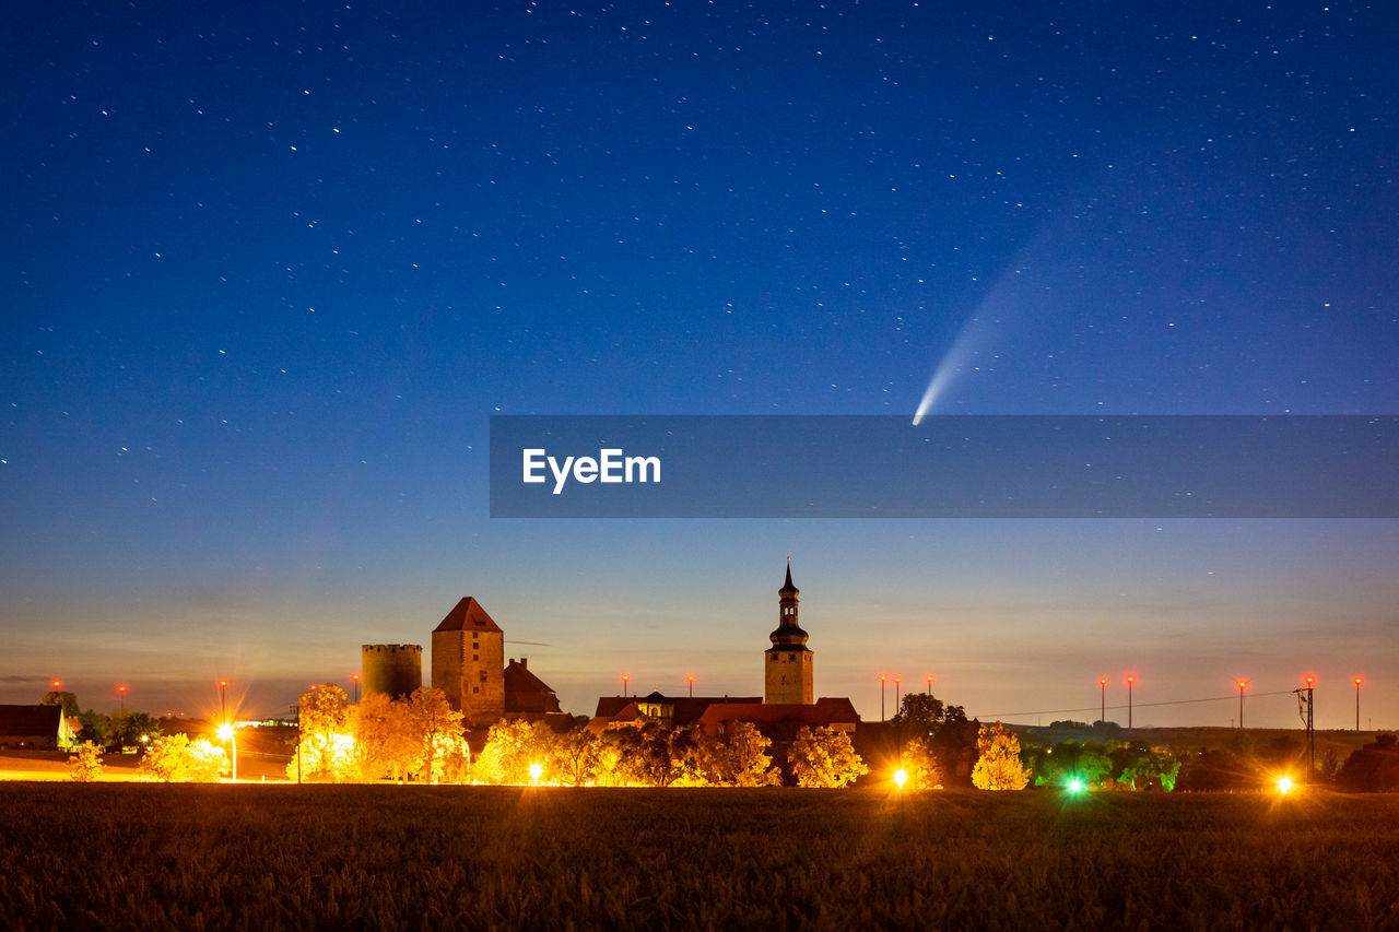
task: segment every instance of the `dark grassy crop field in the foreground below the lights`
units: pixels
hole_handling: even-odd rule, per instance
[[[0,784],[14,929],[1395,929],[1399,796]]]

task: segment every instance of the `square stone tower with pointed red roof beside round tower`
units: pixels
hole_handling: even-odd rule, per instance
[[[432,630],[432,686],[464,723],[492,725],[505,714],[505,633],[467,596]]]

